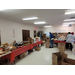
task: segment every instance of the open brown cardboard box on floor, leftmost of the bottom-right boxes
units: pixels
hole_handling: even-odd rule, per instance
[[[67,58],[67,54],[61,52],[53,53],[52,65],[61,65],[64,58]]]

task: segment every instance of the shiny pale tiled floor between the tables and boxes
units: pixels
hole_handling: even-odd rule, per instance
[[[52,53],[59,52],[58,48],[41,47],[40,51],[34,51],[16,62],[15,65],[52,65]],[[75,59],[75,55],[71,51],[65,51],[68,58]]]

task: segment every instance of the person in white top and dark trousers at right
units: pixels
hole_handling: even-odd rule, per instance
[[[73,32],[66,36],[66,49],[68,49],[70,46],[70,49],[72,51],[72,48],[73,48],[72,43],[74,39],[75,39],[75,36]]]

